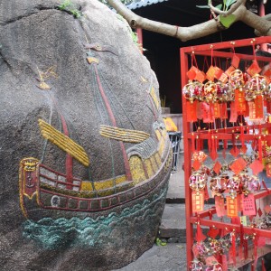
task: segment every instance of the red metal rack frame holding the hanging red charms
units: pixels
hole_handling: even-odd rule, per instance
[[[257,44],[263,43],[271,43],[271,37],[259,37],[253,39],[246,40],[238,40],[234,42],[219,42],[212,44],[204,44],[204,45],[196,45],[193,47],[185,47],[181,48],[181,79],[182,79],[182,88],[188,83],[187,71],[189,70],[189,66],[191,66],[191,55],[192,53],[199,58],[224,58],[231,59],[233,56],[233,47],[237,49],[237,51],[242,51],[242,53],[235,52],[238,55],[238,58],[243,61],[253,61],[255,59],[255,55],[251,52],[247,53],[246,49],[251,49],[251,44],[255,46]],[[249,47],[250,46],[250,47]],[[247,50],[249,51],[249,50]],[[264,56],[257,56],[257,61],[266,61],[270,62],[270,58]],[[187,101],[186,98],[182,95],[182,117],[183,117],[183,147],[184,147],[184,178],[185,178],[185,204],[186,204],[186,244],[187,244],[187,270],[189,270],[190,263],[193,259],[192,254],[192,246],[194,243],[194,233],[193,228],[195,224],[200,223],[201,226],[206,227],[215,227],[216,229],[229,229],[235,230],[239,232],[240,225],[234,223],[225,223],[218,220],[210,220],[210,216],[216,213],[215,208],[210,208],[208,210],[203,210],[199,213],[192,212],[192,190],[189,186],[189,178],[192,173],[192,140],[194,138],[208,139],[210,129],[206,130],[198,130],[193,125],[192,122],[188,121],[187,116]],[[271,124],[267,123],[266,125],[259,125],[257,128],[261,129],[266,127],[270,127]],[[251,126],[249,127],[252,128]],[[215,131],[212,131],[212,135],[215,135],[218,140],[231,140],[233,135],[238,135],[241,132],[241,129],[247,129],[246,126],[230,126],[228,128],[219,128]],[[271,135],[265,135],[265,139],[271,139]],[[255,139],[256,135],[249,135],[244,133],[244,140]],[[267,188],[258,192],[255,195],[255,199],[261,199],[263,197],[268,196],[271,193]],[[251,227],[243,227],[245,234],[258,235],[259,237],[271,238],[271,230],[266,229],[254,229]],[[267,252],[271,252],[271,248],[263,248],[262,254],[266,254]],[[243,260],[238,263],[239,266],[244,266],[249,262],[249,259]]]

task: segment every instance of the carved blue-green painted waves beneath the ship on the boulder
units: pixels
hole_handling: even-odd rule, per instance
[[[154,220],[162,215],[166,192],[167,186],[159,195],[154,194],[151,200],[145,199],[143,203],[126,208],[120,214],[112,212],[96,220],[89,217],[84,220],[76,217],[70,220],[44,218],[37,222],[26,220],[23,223],[23,237],[34,240],[44,249],[103,247],[108,244],[108,237],[116,243],[116,230],[121,230],[122,237],[129,236],[131,229],[137,227],[135,225],[139,228],[139,224],[142,222],[144,225],[146,221],[150,221],[148,227],[153,225],[150,230],[155,230],[159,221]],[[140,238],[141,232],[141,229],[136,229],[136,238]]]

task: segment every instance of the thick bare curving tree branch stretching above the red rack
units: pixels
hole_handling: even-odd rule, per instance
[[[118,14],[121,14],[133,28],[142,28],[155,33],[162,33],[171,37],[175,37],[182,42],[198,39],[208,36],[212,33],[217,33],[223,29],[220,22],[213,19],[204,23],[195,24],[189,27],[175,26],[167,23],[160,23],[145,19],[136,15],[129,10],[126,5],[123,5],[119,0],[107,0],[109,5],[116,9]],[[256,29],[261,35],[271,35],[271,22],[265,17],[260,17],[257,14],[250,12],[243,0],[238,1],[237,9],[232,12],[235,15],[235,22],[241,21],[248,26]],[[240,4],[240,5],[239,5]],[[224,28],[225,29],[225,28]]]

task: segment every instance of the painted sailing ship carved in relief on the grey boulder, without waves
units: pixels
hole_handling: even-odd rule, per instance
[[[95,75],[94,80],[97,82],[97,88],[94,91],[100,97],[99,102],[103,103],[102,107],[98,106],[104,108],[102,113],[107,115],[108,119],[107,123],[100,125],[99,134],[118,145],[123,155],[125,173],[100,181],[85,181],[74,177],[72,173],[73,159],[88,168],[89,155],[81,145],[70,138],[66,119],[61,114],[56,100],[50,95],[51,108],[55,107],[57,110],[63,133],[51,126],[51,118],[48,123],[42,119],[39,119],[38,123],[45,140],[45,148],[49,141],[66,153],[66,172],[60,173],[43,164],[43,157],[40,160],[29,157],[21,161],[20,204],[25,218],[35,219],[35,215],[30,215],[30,213],[36,213],[36,210],[39,209],[72,211],[73,216],[78,213],[80,217],[86,213],[114,209],[117,206],[125,206],[128,202],[144,198],[159,187],[162,182],[165,183],[168,180],[173,158],[172,148],[164,124],[157,120],[160,103],[154,87],[150,84],[147,91],[149,107],[152,108],[154,115],[153,135],[136,130],[132,123],[132,129],[119,127],[114,110],[109,103],[109,100],[113,98],[110,96],[113,95],[112,91],[106,93],[103,89],[103,80],[99,76],[97,68],[99,61],[93,61],[97,59],[90,51],[90,49],[99,51],[99,48],[102,47],[94,45],[86,46],[89,50],[87,61],[89,69]],[[106,82],[104,84],[106,85]],[[39,86],[39,88],[42,87]],[[107,96],[110,97],[107,98]],[[130,120],[126,116],[126,112],[123,115]],[[132,146],[126,149],[125,143]]]

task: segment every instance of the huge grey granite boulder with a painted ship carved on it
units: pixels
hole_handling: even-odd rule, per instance
[[[1,270],[112,270],[151,248],[171,145],[158,82],[96,0],[0,2]]]

